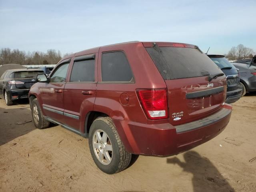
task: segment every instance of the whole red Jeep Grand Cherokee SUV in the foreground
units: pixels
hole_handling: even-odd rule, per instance
[[[66,56],[29,92],[34,124],[89,138],[108,174],[132,154],[170,156],[218,135],[232,107],[226,76],[194,45],[128,42]]]

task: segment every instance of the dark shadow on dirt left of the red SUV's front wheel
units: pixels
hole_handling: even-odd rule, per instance
[[[0,146],[34,129],[30,109],[0,108]]]

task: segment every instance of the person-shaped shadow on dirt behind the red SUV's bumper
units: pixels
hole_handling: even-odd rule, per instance
[[[185,162],[177,157],[167,158],[167,163],[177,164],[185,172],[193,174],[192,184],[194,192],[234,192],[227,178],[224,178],[218,169],[208,160],[195,151],[184,153]]]

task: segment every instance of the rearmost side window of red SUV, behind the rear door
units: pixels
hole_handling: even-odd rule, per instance
[[[102,54],[102,81],[133,82],[130,64],[124,52],[109,52]]]

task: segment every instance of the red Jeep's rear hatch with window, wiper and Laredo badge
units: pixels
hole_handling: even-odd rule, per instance
[[[220,110],[226,98],[226,76],[198,47],[176,43],[144,46],[166,82],[172,125],[192,122]]]

